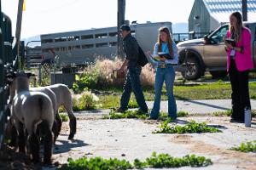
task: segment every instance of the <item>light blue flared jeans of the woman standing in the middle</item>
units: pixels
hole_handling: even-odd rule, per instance
[[[150,113],[151,118],[158,118],[160,111],[160,98],[162,94],[163,83],[166,82],[166,92],[168,96],[168,116],[172,119],[177,118],[177,105],[173,95],[173,83],[175,71],[172,66],[166,68],[157,68],[154,81],[154,106]]]

